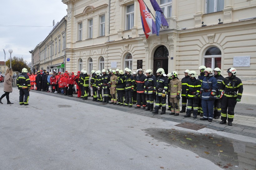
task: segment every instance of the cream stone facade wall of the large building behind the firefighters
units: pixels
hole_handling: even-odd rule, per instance
[[[154,11],[149,0],[144,0],[150,11]],[[137,60],[143,60],[142,68],[154,68],[154,53],[157,47],[165,46],[169,51],[168,72],[176,70],[180,78],[186,69],[196,70],[204,65],[204,54],[209,47],[218,47],[221,51],[221,70],[233,67],[234,56],[250,56],[249,67],[237,67],[237,76],[244,84],[243,103],[252,103],[256,99],[255,45],[256,20],[241,20],[255,17],[256,0],[225,0],[224,9],[206,13],[206,1],[173,0],[169,18],[169,28],[163,28],[160,36],[145,38],[142,30],[139,3],[137,0],[82,1],[62,0],[67,4],[66,31],[66,68],[79,70],[79,61],[83,69],[88,70],[92,58],[93,69],[99,70],[100,58],[105,61],[105,69],[111,68],[111,62],[117,62],[117,68],[125,68],[125,56],[132,55],[132,70],[137,69]],[[159,1],[158,1],[159,2]],[[126,30],[126,7],[134,4],[134,27]],[[110,11],[109,11],[110,10]],[[153,12],[154,13],[154,12]],[[105,14],[105,36],[99,36],[99,16]],[[109,17],[110,16],[110,17]],[[88,38],[88,20],[93,19],[93,36]],[[219,20],[223,24],[218,24]],[[108,22],[109,20],[109,22]],[[239,21],[241,20],[241,21]],[[78,24],[83,23],[82,40],[78,41]],[[202,27],[202,22],[206,27]],[[129,37],[131,38],[128,38]],[[115,68],[112,68],[115,69]],[[214,68],[213,68],[214,69]],[[154,72],[156,70],[153,70]],[[250,90],[250,91],[249,91]]]

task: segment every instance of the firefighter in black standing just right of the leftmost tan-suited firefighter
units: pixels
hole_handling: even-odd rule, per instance
[[[125,76],[124,76],[124,71],[119,70],[119,76],[117,78],[116,82],[116,91],[117,91],[117,105],[124,105],[124,94],[125,94]]]

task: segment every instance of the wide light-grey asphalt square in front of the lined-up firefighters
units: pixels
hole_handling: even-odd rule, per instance
[[[256,143],[255,138],[206,128],[184,129],[176,122],[85,101],[30,92],[29,105],[24,106],[18,98],[15,87],[10,94],[14,104],[7,105],[4,98],[0,105],[0,170],[218,170],[226,165],[156,137],[160,133],[154,134],[152,128],[235,137],[254,147]],[[241,168],[235,166],[229,169]]]

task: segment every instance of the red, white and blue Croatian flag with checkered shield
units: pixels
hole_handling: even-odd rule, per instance
[[[140,4],[140,17],[142,22],[142,28],[146,38],[148,39],[149,35],[156,34],[155,22],[151,18],[149,9],[146,7],[143,0],[138,0],[138,2]]]

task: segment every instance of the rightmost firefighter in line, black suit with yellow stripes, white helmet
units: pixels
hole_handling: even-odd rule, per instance
[[[241,101],[243,93],[242,81],[236,77],[237,70],[229,68],[227,70],[228,77],[222,81],[219,91],[223,91],[221,101],[221,122],[219,124],[226,124],[228,119],[229,126],[232,126],[234,119],[234,108],[237,102]],[[228,113],[227,113],[228,110]]]

